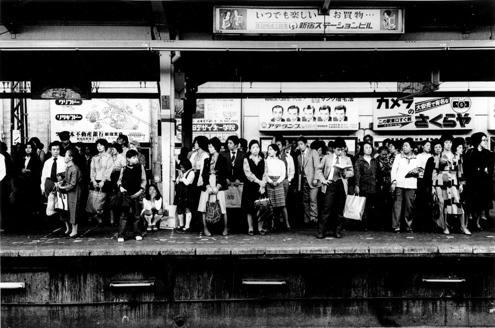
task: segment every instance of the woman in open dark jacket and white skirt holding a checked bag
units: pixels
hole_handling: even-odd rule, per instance
[[[211,233],[206,226],[206,203],[208,201],[215,202],[218,200],[220,205],[220,211],[223,217],[224,229],[222,235],[228,234],[227,230],[227,210],[225,205],[225,193],[224,190],[228,189],[227,186],[227,159],[223,156],[219,156],[220,146],[222,145],[220,139],[213,137],[208,141],[209,158],[204,160],[202,179],[203,185],[201,187],[201,195],[199,196],[198,212],[203,216],[203,229],[206,236],[211,236]]]

